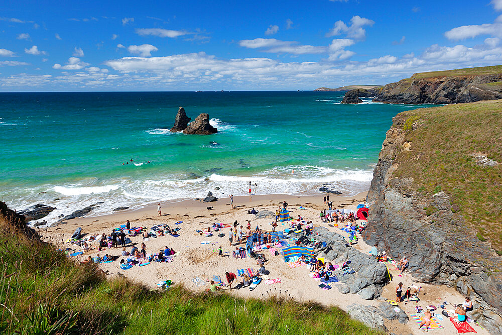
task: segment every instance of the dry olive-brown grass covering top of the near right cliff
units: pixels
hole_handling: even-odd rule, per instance
[[[452,210],[478,239],[502,251],[502,100],[421,108],[398,116],[406,120],[399,127],[411,151],[394,159],[396,176],[413,178],[415,191],[428,196],[447,192]],[[480,166],[475,153],[498,164]]]

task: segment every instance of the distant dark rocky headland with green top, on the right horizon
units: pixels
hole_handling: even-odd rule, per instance
[[[373,101],[388,103],[460,103],[502,98],[502,74],[411,77],[375,89]]]

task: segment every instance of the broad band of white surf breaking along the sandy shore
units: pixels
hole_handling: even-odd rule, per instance
[[[295,169],[295,174],[291,173]],[[350,196],[367,190],[372,178],[371,170],[333,169],[315,165],[276,166],[249,176],[231,176],[213,173],[197,179],[180,175],[148,180],[117,178],[111,180],[86,179],[78,184],[42,185],[31,189],[20,188],[3,192],[12,208],[18,210],[37,203],[57,207],[44,219],[51,224],[59,215],[68,215],[90,204],[98,203],[89,216],[109,214],[113,208],[129,206],[141,208],[157,201],[178,201],[201,198],[211,190],[217,197],[228,194],[247,195],[249,181],[253,193],[263,194],[319,194],[319,187],[329,184],[331,189]],[[255,183],[257,186],[255,186]],[[219,187],[218,191],[215,188]],[[58,198],[58,200],[54,200]]]

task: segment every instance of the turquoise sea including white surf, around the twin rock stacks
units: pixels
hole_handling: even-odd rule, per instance
[[[58,209],[247,194],[367,190],[392,117],[417,105],[340,104],[340,92],[0,93],[0,199]],[[218,133],[170,133],[178,106]],[[133,159],[133,163],[122,165]],[[150,164],[146,162],[150,161]],[[292,174],[292,169],[295,174]],[[219,190],[215,190],[215,187]]]

